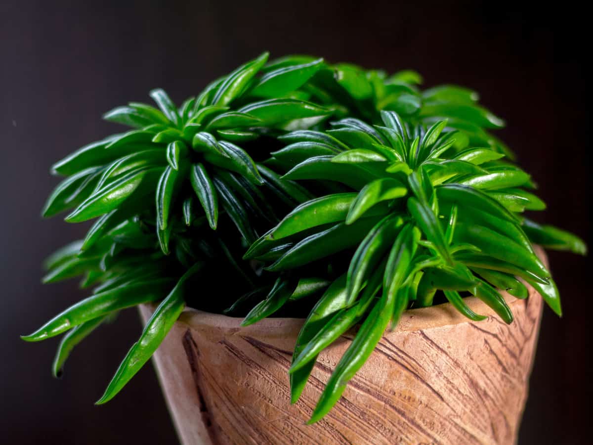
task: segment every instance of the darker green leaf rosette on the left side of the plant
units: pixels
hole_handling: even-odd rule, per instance
[[[70,209],[68,222],[98,218],[81,250],[151,206],[164,253],[169,251],[171,231],[181,226],[177,221],[190,225],[205,216],[216,229],[219,207],[241,236],[253,241],[257,218],[248,217],[246,209],[260,219],[273,218],[259,186],[267,183],[273,191],[286,192],[287,185],[273,171],[257,166],[237,144],[280,131],[284,125],[313,125],[330,114],[308,101],[276,97],[307,81],[322,61],[256,78],[266,61],[264,53],[179,108],[165,91],[153,90],[158,108],[130,103],[106,113],[105,119],[133,129],[82,147],[56,163],[52,171],[68,177],[56,187],[43,214]],[[246,100],[247,92],[259,98]]]

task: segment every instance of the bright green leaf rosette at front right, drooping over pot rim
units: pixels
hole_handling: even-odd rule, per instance
[[[246,255],[265,256],[268,271],[283,272],[323,268],[332,256],[352,252],[311,310],[289,371],[295,402],[319,352],[361,323],[311,422],[329,412],[404,309],[430,306],[442,295],[471,320],[482,320],[464,303],[463,295],[472,294],[511,323],[497,289],[525,298],[527,282],[560,315],[556,284],[532,243],[586,250],[572,234],[521,215],[545,205],[530,175],[502,153],[474,147],[447,121],[427,127],[395,112],[381,117],[383,125],[345,119],[323,134],[282,137],[290,144],[273,159],[294,164],[286,179],[336,182],[340,189],[297,206]]]

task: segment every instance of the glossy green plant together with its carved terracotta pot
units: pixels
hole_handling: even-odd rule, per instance
[[[65,333],[57,376],[140,305],[144,332],[97,403],[164,342],[185,443],[514,440],[539,295],[562,312],[535,244],[585,244],[524,216],[545,204],[473,91],[267,59],[180,107],[163,90],[117,107],[104,118],[130,131],[53,166],[44,216],[96,220],[44,281],[94,289],[23,339]]]

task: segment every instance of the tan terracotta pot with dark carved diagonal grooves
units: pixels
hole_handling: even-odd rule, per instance
[[[533,288],[527,300],[505,299],[511,325],[476,298],[466,302],[489,316],[482,322],[450,304],[406,311],[314,425],[305,421],[352,332],[320,354],[295,405],[287,370],[301,319],[240,328],[241,319],[187,309],[154,361],[184,444],[514,443],[543,302]],[[144,320],[152,309],[141,308]]]

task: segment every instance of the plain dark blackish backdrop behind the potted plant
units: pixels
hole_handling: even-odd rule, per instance
[[[40,285],[40,263],[84,225],[40,209],[49,166],[116,131],[102,113],[165,88],[196,94],[262,50],[313,53],[368,68],[414,68],[425,85],[480,92],[500,131],[540,184],[543,222],[591,244],[585,11],[475,1],[0,2],[0,434],[10,443],[175,443],[152,367],[95,407],[141,332],[135,311],[101,328],[50,376],[57,341],[28,333],[82,297],[75,283]],[[543,5],[543,4],[542,4]],[[579,443],[589,430],[591,261],[551,253],[565,316],[544,311],[519,443]]]

